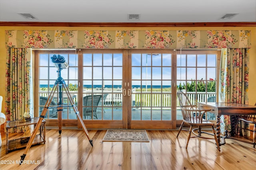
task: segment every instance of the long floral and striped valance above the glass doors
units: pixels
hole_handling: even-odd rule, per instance
[[[6,47],[88,49],[250,48],[250,30],[6,30]]]

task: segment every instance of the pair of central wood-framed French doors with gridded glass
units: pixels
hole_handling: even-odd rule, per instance
[[[78,56],[78,107],[86,126],[176,128],[170,51],[81,50]],[[84,102],[88,96],[90,104]]]

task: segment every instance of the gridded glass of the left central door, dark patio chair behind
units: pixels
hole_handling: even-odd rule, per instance
[[[122,57],[83,52],[83,119],[122,120]]]

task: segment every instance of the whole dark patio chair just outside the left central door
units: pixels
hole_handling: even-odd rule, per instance
[[[83,108],[84,119],[86,119],[87,117],[95,117],[96,119],[98,119],[96,110],[101,99],[102,99],[102,95],[84,96],[83,98],[83,106],[85,106]]]

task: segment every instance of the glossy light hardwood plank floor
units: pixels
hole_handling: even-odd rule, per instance
[[[226,139],[216,149],[214,140],[190,139],[187,131],[147,131],[150,142],[102,142],[106,130],[88,130],[90,145],[80,129],[46,129],[46,143],[31,147],[24,164],[17,164],[24,149],[5,153],[0,148],[1,170],[250,170],[256,166],[252,145]]]

